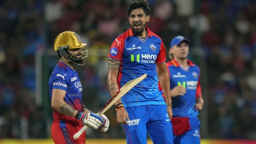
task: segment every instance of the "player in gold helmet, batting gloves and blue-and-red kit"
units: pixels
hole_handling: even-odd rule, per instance
[[[52,139],[55,144],[85,144],[85,132],[76,140],[72,137],[83,124],[106,132],[109,120],[105,115],[90,112],[82,103],[82,85],[75,65],[84,65],[87,44],[75,32],[60,33],[54,42],[57,66],[49,78],[49,93],[53,109]]]

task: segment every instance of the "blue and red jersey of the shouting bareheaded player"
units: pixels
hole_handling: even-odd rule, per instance
[[[121,63],[117,78],[119,88],[145,73],[148,75],[121,98],[125,107],[165,104],[156,72],[156,63],[166,63],[165,47],[159,36],[147,27],[146,31],[148,36],[141,39],[128,29],[113,41],[108,55],[109,60]]]

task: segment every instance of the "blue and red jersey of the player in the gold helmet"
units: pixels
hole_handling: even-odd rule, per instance
[[[52,99],[52,89],[62,89],[66,91],[64,101],[80,112],[84,111],[82,103],[82,85],[76,70],[72,69],[66,63],[59,61],[49,78],[49,92]],[[82,121],[63,115],[53,109],[53,118],[64,120],[66,122],[82,125]]]

